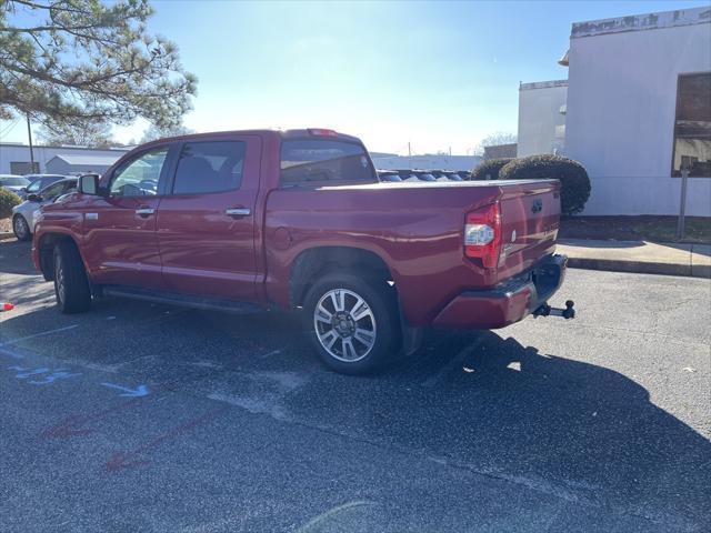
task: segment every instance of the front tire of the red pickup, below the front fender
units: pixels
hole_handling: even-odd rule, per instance
[[[62,241],[54,247],[54,296],[60,311],[81,313],[91,308],[91,290],[84,263],[73,242]]]

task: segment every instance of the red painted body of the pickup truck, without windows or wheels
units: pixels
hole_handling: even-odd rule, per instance
[[[242,185],[231,192],[113,199],[73,194],[48,205],[37,227],[33,260],[42,239],[61,234],[77,243],[93,283],[128,284],[208,296],[246,300],[263,306],[292,306],[291,274],[299,255],[320,247],[372,252],[388,266],[407,322],[500,328],[532,312],[525,280],[512,300],[487,291],[550,259],[560,215],[560,184],[543,181],[418,183],[314,183],[280,187],[280,145],[308,130],[267,130],[186,135],[160,140],[122,157],[101,179],[147,150],[186,142],[243,140]],[[339,139],[360,143],[338,133]],[[331,139],[331,135],[328,135]],[[173,169],[174,171],[174,169]],[[495,268],[467,258],[467,213],[499,202],[501,255]],[[136,209],[150,207],[143,219]],[[541,207],[538,212],[534,208]],[[250,214],[231,219],[230,207]],[[87,218],[97,213],[97,219]],[[564,270],[564,264],[561,269]],[[522,289],[523,288],[523,289]],[[483,291],[479,298],[472,291]],[[462,294],[470,294],[463,296]],[[489,319],[472,320],[472,313]]]

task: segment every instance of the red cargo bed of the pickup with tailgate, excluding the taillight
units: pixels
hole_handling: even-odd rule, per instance
[[[306,249],[354,247],[389,265],[413,325],[427,324],[455,294],[493,288],[553,253],[560,184],[467,181],[294,187],[272,191],[264,213],[268,298],[281,304],[289,270]],[[463,254],[468,212],[499,202],[502,259],[495,269]],[[532,212],[534,203],[542,209]],[[288,291],[287,291],[288,294]]]

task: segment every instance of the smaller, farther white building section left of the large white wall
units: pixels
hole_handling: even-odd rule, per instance
[[[568,81],[521,83],[519,87],[519,147],[517,155],[564,152]]]

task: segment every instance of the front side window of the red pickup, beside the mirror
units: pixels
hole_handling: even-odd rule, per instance
[[[121,164],[111,178],[112,197],[144,197],[158,192],[168,147],[157,148]]]

